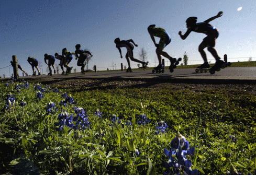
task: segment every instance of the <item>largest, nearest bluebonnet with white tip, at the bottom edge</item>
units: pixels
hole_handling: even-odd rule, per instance
[[[171,141],[170,151],[164,148],[164,154],[169,158],[168,162],[162,162],[162,166],[168,169],[169,173],[163,172],[163,174],[180,174],[182,166],[185,167],[186,174],[198,174],[198,170],[191,169],[191,161],[186,159],[186,155],[192,155],[195,152],[195,148],[189,147],[188,141],[179,132]],[[174,156],[173,156],[174,155]],[[173,171],[170,170],[173,169]]]

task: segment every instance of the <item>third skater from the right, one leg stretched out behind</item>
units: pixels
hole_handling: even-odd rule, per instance
[[[135,44],[135,42],[133,42],[132,39],[129,39],[129,40],[123,40],[123,41],[120,41],[119,38],[116,38],[115,41],[116,43],[116,48],[118,49],[120,55],[121,55],[121,58],[123,58],[122,56],[122,52],[121,52],[121,49],[120,48],[126,48],[127,49],[127,53],[125,55],[125,58],[127,60],[127,63],[128,63],[128,68],[127,68],[127,72],[131,72],[131,65],[130,65],[130,60],[133,61],[133,62],[137,62],[137,63],[141,63],[142,64],[142,67],[145,68],[147,65],[148,65],[148,62],[142,62],[136,58],[133,57],[133,45],[132,43],[135,45],[135,46],[138,46],[137,44]],[[129,60],[130,58],[130,60]]]

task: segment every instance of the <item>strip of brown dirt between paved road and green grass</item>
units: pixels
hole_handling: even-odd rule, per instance
[[[178,82],[150,81],[150,80],[121,80],[121,79],[58,79],[58,78],[42,78],[41,84],[47,84],[51,87],[59,89],[74,89],[76,91],[94,90],[94,89],[115,89],[115,88],[152,88],[152,89],[172,89],[184,90],[189,89],[194,92],[200,92],[205,89],[227,91],[241,90],[256,95],[256,85],[247,84],[191,84]]]

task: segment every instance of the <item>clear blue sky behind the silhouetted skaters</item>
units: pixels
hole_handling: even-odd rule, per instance
[[[242,7],[240,11],[238,8]],[[61,53],[63,48],[75,51],[75,45],[90,49],[93,54],[89,63],[92,69],[117,69],[120,63],[127,65],[125,57],[120,58],[114,40],[132,39],[139,46],[133,50],[139,58],[142,48],[148,53],[149,66],[158,64],[155,46],[147,28],[155,24],[170,34],[172,41],[164,51],[172,57],[188,55],[188,64],[203,63],[198,45],[205,34],[192,32],[186,40],[178,35],[186,32],[186,19],[197,17],[204,21],[223,11],[223,15],[210,22],[219,30],[215,48],[221,58],[224,54],[230,61],[248,61],[252,56],[256,60],[256,2],[255,0],[86,0],[86,1],[19,1],[2,0],[0,3],[1,28],[1,67],[10,65],[16,55],[18,63],[30,75],[32,68],[27,62],[28,56],[42,62],[43,74],[47,65],[44,54]],[[157,42],[159,41],[159,38]],[[121,48],[123,56],[126,49]],[[213,56],[205,49],[207,57],[214,63]],[[245,57],[245,58],[238,58]],[[165,61],[169,61],[165,58]],[[77,67],[73,57],[71,66]],[[59,64],[59,60],[57,60]],[[170,65],[170,62],[168,63]],[[137,68],[137,63],[131,61]],[[10,69],[12,73],[12,68]],[[0,76],[9,76],[9,67],[0,69]],[[19,74],[21,74],[19,70]]]

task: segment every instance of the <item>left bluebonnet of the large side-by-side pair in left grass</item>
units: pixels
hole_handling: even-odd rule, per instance
[[[57,131],[61,131],[64,128],[64,126],[68,126],[70,128],[72,128],[74,126],[74,124],[72,123],[73,122],[73,114],[71,114],[71,116],[69,117],[69,113],[62,112],[58,116],[58,120],[59,120],[59,122],[54,122],[55,126],[59,126],[56,128]]]

